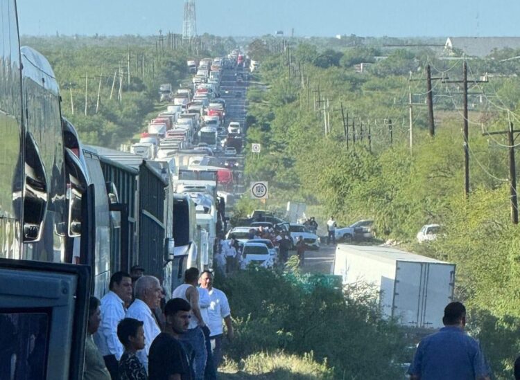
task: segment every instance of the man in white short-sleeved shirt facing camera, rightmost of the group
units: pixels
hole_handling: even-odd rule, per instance
[[[213,350],[213,363],[215,371],[222,361],[222,337],[223,337],[223,322],[227,329],[227,340],[233,340],[233,325],[231,320],[231,310],[229,309],[229,302],[225,293],[213,287],[213,274],[210,271],[202,272],[199,279],[200,287],[207,289],[209,293],[209,308],[208,308],[208,327],[209,338],[211,340],[211,347]]]

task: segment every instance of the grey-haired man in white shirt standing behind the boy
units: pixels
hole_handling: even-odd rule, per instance
[[[164,296],[159,280],[153,275],[141,276],[135,282],[134,293],[135,300],[126,311],[126,318],[135,318],[144,323],[144,350],[138,351],[137,357],[144,365],[144,368],[146,368],[146,372],[148,372],[150,345],[152,345],[155,337],[161,332],[159,323],[157,323],[152,310],[157,309],[161,305],[161,300]]]

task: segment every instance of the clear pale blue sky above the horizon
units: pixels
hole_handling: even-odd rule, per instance
[[[18,0],[26,35],[182,32],[184,0]],[[197,0],[198,33],[519,36],[519,0]]]

